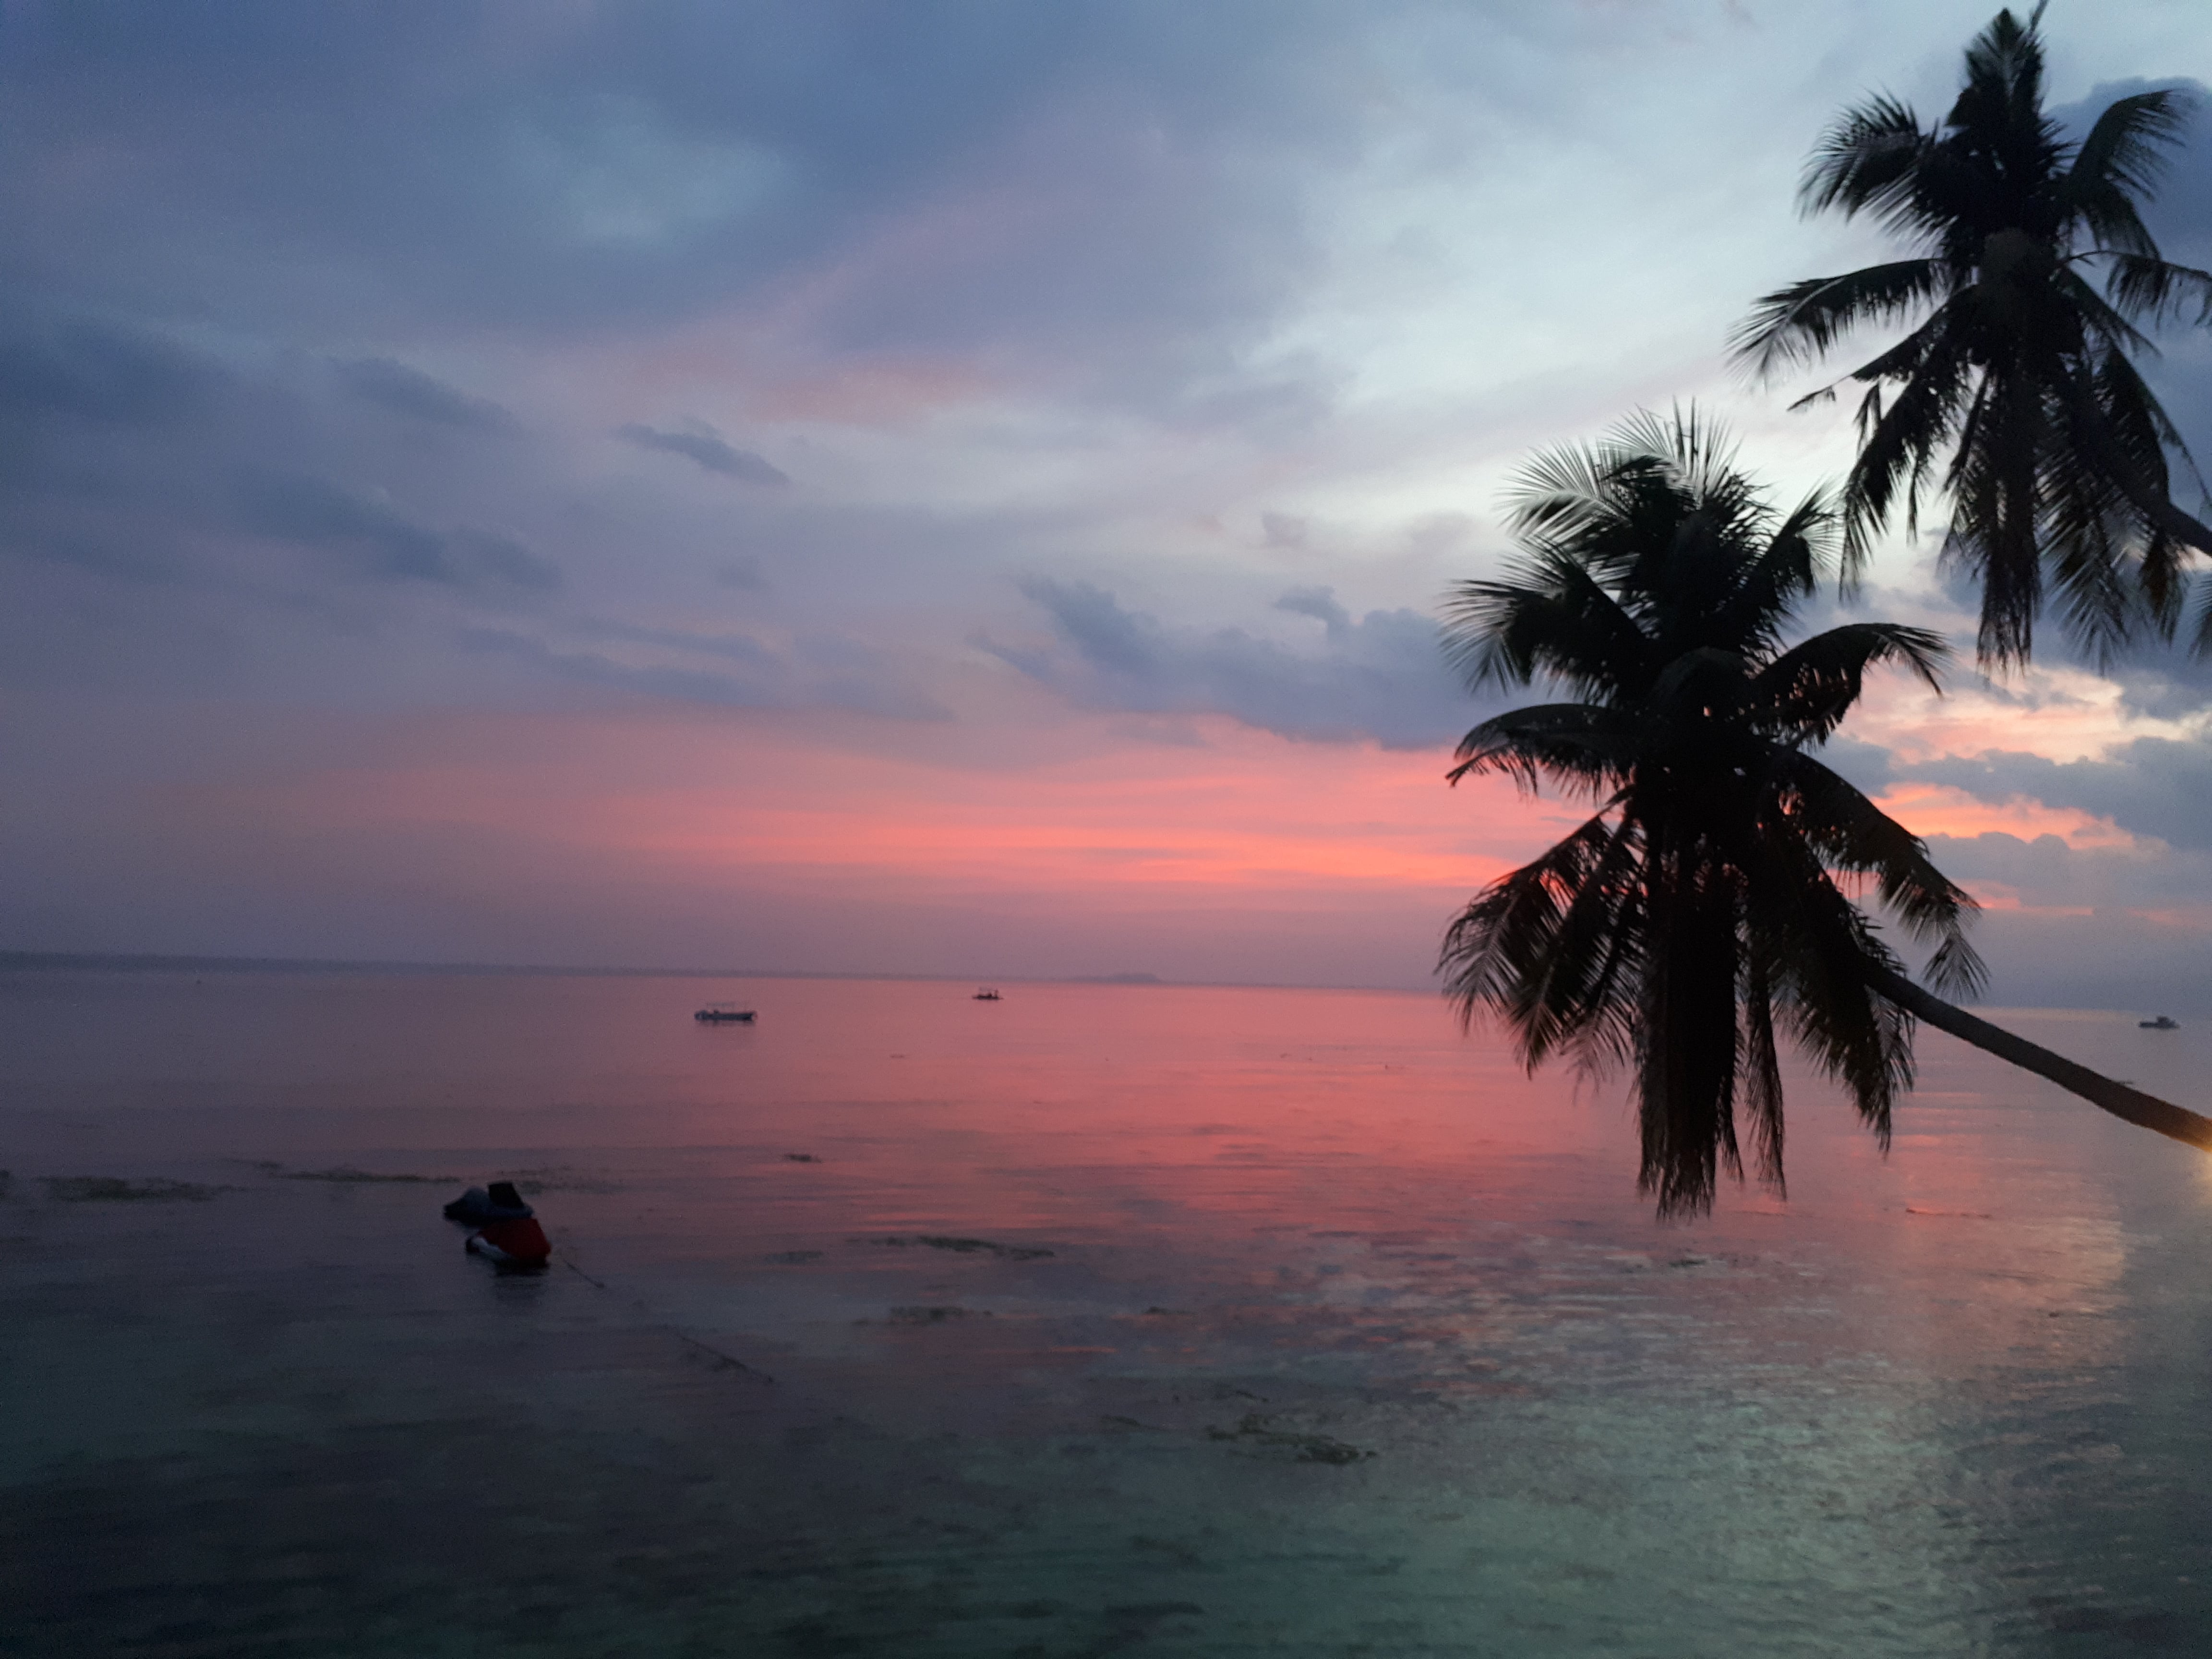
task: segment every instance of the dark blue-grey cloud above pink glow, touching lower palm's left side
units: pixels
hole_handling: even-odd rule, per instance
[[[1055,644],[978,644],[1088,708],[1232,714],[1283,737],[1387,748],[1447,743],[1484,712],[1453,681],[1436,622],[1418,611],[1354,619],[1327,588],[1292,591],[1276,608],[1325,626],[1327,650],[1310,655],[1241,628],[1170,628],[1091,582],[1020,586],[1051,617]]]

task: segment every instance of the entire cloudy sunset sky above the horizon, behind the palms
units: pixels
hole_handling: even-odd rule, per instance
[[[0,949],[1433,984],[1579,816],[1447,787],[1438,602],[1639,407],[1843,471],[1728,330],[1882,257],[1798,168],[1989,15],[0,0]],[[2046,33],[2070,119],[2212,84],[2201,0]],[[1809,624],[1971,646],[1933,546]],[[2046,630],[1829,759],[1993,1002],[2212,1011],[2212,664]]]

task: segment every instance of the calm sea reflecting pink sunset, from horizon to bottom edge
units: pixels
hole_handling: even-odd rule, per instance
[[[1659,1225],[1420,995],[0,978],[0,1652],[2212,1650],[2212,1166],[1922,1060]]]

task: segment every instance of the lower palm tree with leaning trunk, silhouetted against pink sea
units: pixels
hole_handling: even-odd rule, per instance
[[[1548,783],[1595,814],[1467,905],[1440,971],[1462,1022],[1500,1015],[1531,1071],[1559,1053],[1632,1068],[1641,1188],[1661,1214],[1710,1208],[1721,1168],[1741,1179],[1739,1106],[1759,1175],[1781,1186],[1776,1033],[1851,1093],[1885,1146],[1920,1018],[2212,1148],[2212,1119],[1913,984],[1854,902],[1871,889],[1936,947],[1938,989],[1980,984],[1973,898],[1812,754],[1869,670],[1896,664],[1936,686],[1949,653],[1889,622],[1785,644],[1834,560],[1827,495],[1774,511],[1692,414],[1540,456],[1511,500],[1522,557],[1453,591],[1447,648],[1478,690],[1546,679],[1575,701],[1482,721],[1449,776]]]

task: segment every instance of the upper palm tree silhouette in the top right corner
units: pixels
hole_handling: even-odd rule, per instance
[[[2046,584],[2099,659],[2141,622],[2170,633],[2183,560],[2212,553],[2212,529],[2172,502],[2168,456],[2194,465],[2132,361],[2154,352],[2139,325],[2212,321],[2212,274],[2161,259],[2139,215],[2188,106],[2137,93],[2068,139],[2044,113],[2042,13],[2000,11],[1973,38],[1942,124],[1922,131],[1885,95],[1829,126],[1801,208],[1871,215],[1913,257],[1778,288],[1734,336],[1770,376],[1863,325],[1916,323],[1847,376],[1867,392],[1845,573],[1898,507],[1916,531],[1922,493],[1949,498],[1944,555],[1982,586],[1993,668],[2028,659]]]

